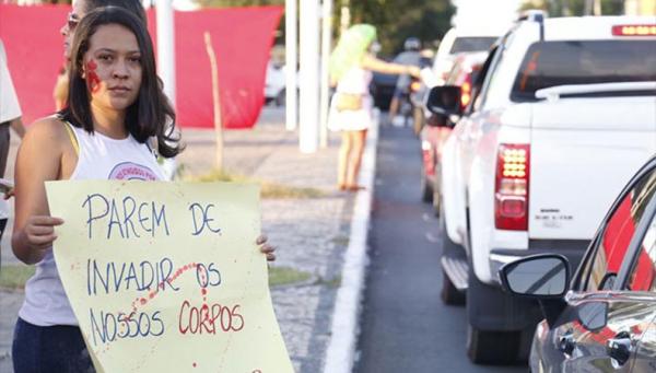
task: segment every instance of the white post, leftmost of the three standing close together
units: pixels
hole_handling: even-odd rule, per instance
[[[284,8],[284,58],[285,58],[285,128],[290,131],[296,129],[298,115],[297,84],[297,21],[296,0],[286,0]]]

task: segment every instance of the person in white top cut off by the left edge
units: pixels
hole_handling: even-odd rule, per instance
[[[4,44],[0,39],[0,178],[4,178],[7,167],[7,158],[11,141],[10,128],[21,138],[25,135],[21,105],[19,104],[19,97],[16,96],[11,74],[9,73]],[[0,184],[2,184],[0,187],[2,187],[5,196],[5,198],[0,198],[0,240],[2,240],[9,220],[9,203],[5,199],[11,196],[12,188],[11,183],[4,183],[3,180]],[[1,246],[0,249],[2,249]]]

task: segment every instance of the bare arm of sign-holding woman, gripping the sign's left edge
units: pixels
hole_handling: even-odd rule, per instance
[[[23,138],[15,164],[15,214],[11,240],[14,255],[25,264],[43,259],[56,238],[46,199],[46,180],[60,177],[62,141],[68,140],[63,125],[55,118],[36,121]]]

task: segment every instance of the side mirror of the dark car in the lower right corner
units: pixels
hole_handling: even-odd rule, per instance
[[[562,255],[528,256],[501,267],[503,288],[538,300],[562,299],[570,288],[570,263]]]

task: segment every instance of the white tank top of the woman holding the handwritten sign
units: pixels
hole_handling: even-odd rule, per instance
[[[155,156],[147,144],[132,136],[115,140],[98,132],[73,127],[80,151],[71,179],[164,179]],[[52,248],[36,265],[36,273],[25,284],[25,302],[19,316],[38,326],[78,325],[66,296]]]

